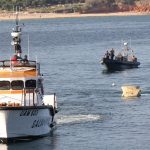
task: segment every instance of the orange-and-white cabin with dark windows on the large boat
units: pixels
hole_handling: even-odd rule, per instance
[[[0,106],[35,106],[42,104],[43,78],[36,61],[0,61]]]

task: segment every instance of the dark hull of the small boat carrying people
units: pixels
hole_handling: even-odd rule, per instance
[[[102,64],[104,64],[108,70],[124,70],[124,69],[138,68],[138,66],[140,65],[139,62],[119,61],[106,58],[102,60]]]

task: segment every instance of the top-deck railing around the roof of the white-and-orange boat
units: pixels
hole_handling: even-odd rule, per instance
[[[28,60],[28,61],[1,60],[0,61],[0,67],[33,67],[33,68],[36,68],[37,64],[38,63],[36,61],[31,61],[31,60]],[[39,66],[39,64],[38,64],[38,66]]]

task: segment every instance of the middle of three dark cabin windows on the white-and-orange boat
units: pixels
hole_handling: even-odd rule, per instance
[[[22,90],[24,88],[24,83],[21,80],[12,81],[11,88],[13,90]]]

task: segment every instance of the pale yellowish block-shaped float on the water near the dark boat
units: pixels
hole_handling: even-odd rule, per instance
[[[124,97],[139,97],[141,96],[141,89],[139,86],[135,85],[125,85],[121,87]]]

